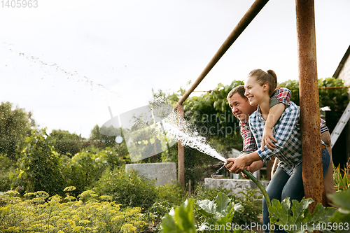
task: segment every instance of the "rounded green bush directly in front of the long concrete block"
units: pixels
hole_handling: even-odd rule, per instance
[[[123,207],[150,208],[157,197],[155,181],[139,177],[136,171],[126,172],[125,167],[110,171],[106,169],[94,189],[99,195],[110,195]]]

